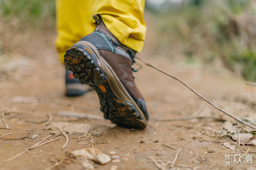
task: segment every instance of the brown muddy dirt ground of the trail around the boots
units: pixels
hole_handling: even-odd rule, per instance
[[[148,32],[150,34],[150,29]],[[84,169],[80,160],[66,153],[91,147],[112,158],[105,165],[89,161],[99,170],[115,169],[116,166],[120,170],[159,169],[148,157],[170,169],[180,149],[173,169],[255,169],[255,147],[238,146],[238,142],[230,138],[234,132],[229,133],[223,124],[231,121],[235,132],[238,130],[240,134],[250,132],[251,128],[225,116],[181,83],[152,68],[144,66],[135,73],[136,84],[150,112],[146,129],[122,128],[103,119],[94,91],[80,97],[65,97],[64,66],[58,61],[54,37],[53,32],[41,36],[41,42],[31,38],[27,46],[30,56],[16,51],[0,57],[0,136],[12,132],[0,138],[0,170]],[[197,62],[173,62],[169,56],[153,51],[152,41],[147,37],[139,57],[181,78],[226,111],[255,123],[256,87],[246,85],[250,82],[223,69],[221,64],[211,67]],[[61,113],[80,113],[87,118],[62,116]],[[69,142],[61,149],[66,138],[59,135],[60,140],[9,160],[51,135],[52,125],[63,122],[89,124],[87,136],[91,136],[79,141],[82,138],[78,137],[83,134],[66,133]],[[34,138],[35,134],[38,136]],[[58,138],[57,135],[52,134],[44,142]],[[226,148],[224,142],[234,148]],[[225,154],[245,153],[252,154],[252,164],[225,167]]]

